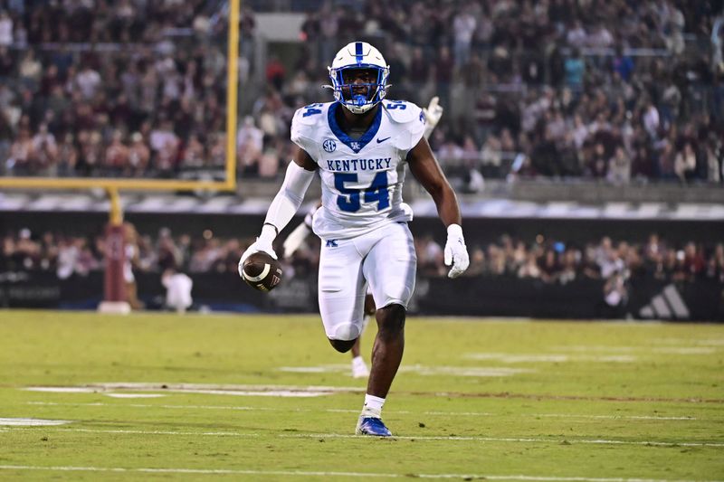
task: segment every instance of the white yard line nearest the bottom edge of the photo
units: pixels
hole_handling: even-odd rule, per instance
[[[59,472],[125,472],[144,474],[204,474],[244,476],[289,476],[289,477],[376,477],[376,478],[487,478],[489,480],[524,480],[530,482],[721,482],[719,480],[681,480],[662,478],[626,477],[556,477],[493,474],[395,474],[375,472],[331,472],[314,470],[248,470],[234,468],[122,468],[122,467],[72,467],[72,466],[23,466],[0,465],[0,470],[48,470]]]

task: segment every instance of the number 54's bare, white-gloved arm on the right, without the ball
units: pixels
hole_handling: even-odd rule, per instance
[[[447,228],[444,260],[445,265],[451,267],[448,277],[457,278],[470,264],[465,239],[462,237],[462,216],[457,196],[452,191],[452,186],[443,174],[425,138],[421,138],[410,150],[407,162],[414,178],[433,196],[437,213]]]

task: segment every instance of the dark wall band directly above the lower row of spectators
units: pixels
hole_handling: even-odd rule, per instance
[[[298,216],[293,220],[282,236],[286,236],[301,219]],[[200,235],[210,229],[215,236],[245,238],[258,234],[263,217],[258,214],[129,213],[126,220],[134,223],[141,233],[156,234],[161,227],[167,227],[175,234]],[[29,228],[33,232],[95,234],[102,232],[107,221],[108,216],[101,213],[0,213],[0,233]],[[724,241],[724,222],[705,221],[469,218],[463,220],[463,228],[469,245],[495,241],[504,233],[526,241],[533,241],[542,234],[546,238],[574,243],[598,241],[603,236],[643,242],[651,232],[657,232],[675,244]],[[415,218],[410,229],[415,235],[432,233],[435,239],[444,241],[443,224],[437,218]]]

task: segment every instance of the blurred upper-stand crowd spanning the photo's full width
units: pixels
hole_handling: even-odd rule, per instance
[[[223,164],[218,3],[0,5],[3,175],[171,176]],[[305,5],[319,8],[293,64],[270,54],[254,65],[256,23],[243,11],[240,75],[255,100],[237,133],[242,175],[279,174],[294,109],[325,99],[339,45],[367,39],[391,66],[392,98],[441,97],[431,144],[451,175],[724,181],[720,0]],[[116,52],[76,48],[92,43]]]

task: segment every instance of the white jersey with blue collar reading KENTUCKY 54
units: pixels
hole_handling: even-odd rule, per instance
[[[424,134],[422,109],[383,100],[364,136],[339,128],[338,102],[310,104],[294,114],[291,140],[319,165],[322,207],[313,230],[322,239],[358,236],[389,222],[410,221],[400,207],[407,153]]]

